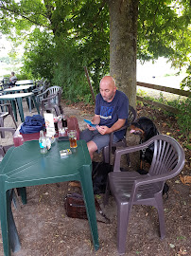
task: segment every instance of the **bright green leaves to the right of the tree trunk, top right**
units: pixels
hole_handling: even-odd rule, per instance
[[[140,0],[138,59],[168,58],[177,68],[189,65],[191,45],[190,0]]]

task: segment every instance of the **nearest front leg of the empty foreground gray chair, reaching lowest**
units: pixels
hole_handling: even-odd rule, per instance
[[[129,226],[130,210],[129,204],[117,205],[117,250],[124,254],[126,250],[126,238]]]

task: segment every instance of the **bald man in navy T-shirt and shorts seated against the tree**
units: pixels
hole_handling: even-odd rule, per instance
[[[105,76],[99,84],[100,93],[96,96],[95,117],[92,123],[96,129],[87,124],[88,129],[80,133],[80,139],[87,142],[91,158],[96,151],[109,145],[112,132],[127,123],[129,115],[128,97],[115,86],[113,77]],[[117,142],[125,135],[125,131],[115,132],[113,142]]]

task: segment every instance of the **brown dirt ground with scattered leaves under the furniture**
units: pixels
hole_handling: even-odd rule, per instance
[[[86,111],[77,105],[64,105],[64,112],[76,116],[80,129],[85,128],[83,119],[90,119],[94,112]],[[138,115],[149,115],[163,133],[175,130],[176,124],[170,120],[171,127],[163,126],[163,117],[152,109],[138,109]],[[161,117],[161,118],[160,118]],[[166,121],[165,117],[165,122]],[[169,120],[169,118],[168,118]],[[163,129],[162,129],[163,128]],[[134,139],[134,140],[133,140]],[[130,141],[136,139],[133,137]],[[134,143],[134,142],[133,142]],[[99,157],[99,155],[97,156]],[[190,156],[189,156],[190,157]],[[187,159],[188,156],[187,156]],[[182,174],[189,174],[189,162]],[[170,191],[164,200],[166,237],[161,241],[157,211],[147,206],[133,207],[127,237],[128,256],[182,256],[191,255],[190,250],[190,186],[183,185],[180,177],[168,181]],[[13,208],[16,226],[21,239],[22,249],[14,256],[117,256],[116,229],[117,212],[113,197],[104,209],[111,224],[97,223],[100,248],[95,252],[87,220],[71,219],[65,215],[63,198],[68,191],[67,182],[27,188],[27,204],[20,202]],[[103,195],[98,196],[102,202]],[[2,241],[0,256],[3,256]]]

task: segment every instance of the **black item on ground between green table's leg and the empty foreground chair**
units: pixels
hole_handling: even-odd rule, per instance
[[[93,164],[93,190],[95,194],[105,193],[108,174],[113,172],[113,165],[104,162],[92,162]]]

